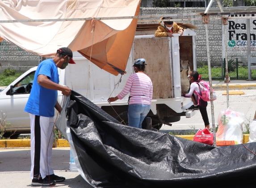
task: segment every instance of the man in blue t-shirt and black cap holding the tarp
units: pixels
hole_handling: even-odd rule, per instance
[[[51,153],[54,140],[53,126],[56,108],[62,108],[57,101],[57,91],[66,96],[71,89],[59,84],[58,68],[75,64],[69,48],[59,48],[53,59],[42,61],[35,72],[25,112],[29,112],[31,127],[31,172],[32,185],[54,185],[64,181],[64,177],[54,174],[51,168]]]

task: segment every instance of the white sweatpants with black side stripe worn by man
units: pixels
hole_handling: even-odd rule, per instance
[[[31,128],[31,171],[30,177],[45,178],[54,174],[51,168],[51,153],[54,141],[54,117],[36,116],[30,114]],[[47,148],[48,147],[48,148]]]

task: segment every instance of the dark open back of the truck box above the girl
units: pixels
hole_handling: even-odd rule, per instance
[[[189,60],[189,68],[193,70],[193,43],[192,36],[179,37],[180,60]]]

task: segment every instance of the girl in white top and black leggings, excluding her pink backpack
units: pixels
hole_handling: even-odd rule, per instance
[[[203,118],[203,121],[205,123],[205,127],[210,129],[210,123],[209,118],[207,115],[206,107],[207,107],[207,101],[204,101],[200,98],[201,96],[201,89],[199,86],[199,82],[201,81],[201,75],[197,71],[192,71],[190,75],[188,76],[190,81],[190,90],[189,93],[185,94],[182,93],[182,96],[186,98],[195,97],[195,100],[197,101],[197,104],[199,106],[199,110],[201,113],[201,116]]]

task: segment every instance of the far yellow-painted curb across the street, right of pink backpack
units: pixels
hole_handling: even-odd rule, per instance
[[[227,84],[213,84],[215,91],[227,90]],[[228,84],[229,90],[256,89],[256,83],[252,84]]]

